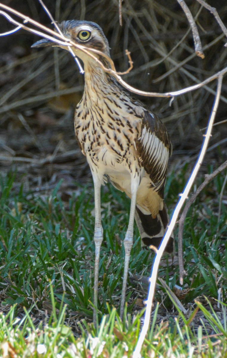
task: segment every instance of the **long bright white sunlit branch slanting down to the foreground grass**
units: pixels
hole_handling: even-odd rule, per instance
[[[185,200],[188,197],[188,193],[189,193],[189,191],[190,191],[190,189],[191,189],[191,187],[192,187],[192,185],[194,183],[194,180],[195,180],[195,178],[197,176],[197,173],[198,173],[199,168],[200,168],[200,166],[202,164],[204,155],[206,154],[206,149],[207,149],[207,146],[208,146],[209,138],[211,136],[211,130],[212,130],[213,122],[214,122],[214,119],[215,119],[215,116],[216,116],[216,112],[217,112],[217,108],[218,108],[218,104],[219,104],[219,99],[220,99],[220,95],[221,95],[222,78],[223,78],[222,76],[218,77],[217,93],[216,93],[216,97],[215,97],[215,100],[214,100],[214,105],[213,105],[213,108],[212,108],[211,116],[209,118],[209,125],[208,125],[208,129],[207,129],[207,133],[204,136],[205,137],[204,142],[203,142],[199,157],[197,159],[197,163],[194,166],[192,174],[190,175],[190,178],[188,179],[188,182],[187,182],[187,184],[185,186],[185,189],[184,189],[183,193],[180,194],[180,199],[179,199],[179,201],[178,201],[178,203],[177,203],[177,205],[176,205],[176,207],[174,209],[172,219],[171,219],[171,221],[170,221],[170,223],[168,225],[168,229],[167,229],[167,231],[166,231],[166,233],[165,233],[165,235],[163,237],[163,240],[161,242],[161,245],[159,247],[159,250],[157,252],[155,260],[153,262],[153,267],[152,267],[152,271],[151,271],[151,277],[149,279],[150,286],[149,286],[149,291],[148,291],[148,298],[146,300],[146,305],[147,306],[146,306],[146,311],[145,311],[144,324],[143,324],[139,339],[138,339],[137,344],[136,344],[136,348],[135,348],[133,356],[132,356],[133,358],[141,357],[140,350],[141,350],[141,347],[143,345],[146,333],[148,332],[148,328],[149,328],[149,324],[150,324],[151,307],[152,307],[153,298],[154,298],[154,291],[155,291],[155,282],[156,282],[156,279],[157,279],[157,276],[158,276],[158,268],[159,268],[159,263],[160,263],[161,257],[163,255],[164,250],[165,250],[166,244],[167,244],[167,242],[168,242],[168,240],[170,238],[170,235],[171,235],[171,233],[173,231],[173,228],[174,228],[175,223],[177,221],[179,212],[180,212]]]

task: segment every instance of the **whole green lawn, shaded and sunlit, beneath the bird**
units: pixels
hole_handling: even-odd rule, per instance
[[[170,210],[183,190],[187,175],[185,166],[167,180],[166,202]],[[184,317],[165,290],[158,289],[155,305],[158,307],[158,301],[163,304],[159,310],[153,308],[143,357],[171,357],[171,354],[173,357],[217,357],[217,354],[227,357],[227,208],[224,204],[217,222],[218,194],[223,180],[222,173],[208,185],[185,221],[184,265],[188,276],[180,300],[187,314]],[[141,301],[146,298],[146,287],[129,282],[127,315],[121,322],[118,316],[124,269],[121,242],[129,219],[129,199],[111,185],[102,189],[104,241],[98,301],[101,324],[97,329],[92,324],[95,250],[92,184],[78,185],[75,194],[64,202],[61,182],[52,192],[37,195],[25,192],[18,185],[16,174],[9,173],[0,178],[0,191],[0,356],[8,347],[9,357],[14,356],[12,352],[16,357],[39,357],[38,344],[45,347],[42,354],[45,357],[57,357],[57,354],[60,354],[58,358],[96,357],[98,350],[102,350],[102,357],[130,356],[140,331]],[[153,258],[148,250],[141,250],[135,227],[131,275],[148,277]],[[179,285],[179,271],[178,265],[170,261],[168,256],[163,258],[159,277],[174,290],[174,285]],[[221,290],[220,306],[218,290]],[[94,348],[95,337],[99,340]]]

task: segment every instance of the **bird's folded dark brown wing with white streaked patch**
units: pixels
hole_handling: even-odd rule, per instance
[[[140,135],[135,140],[135,149],[140,163],[150,177],[151,187],[163,198],[172,144],[164,124],[146,110]]]

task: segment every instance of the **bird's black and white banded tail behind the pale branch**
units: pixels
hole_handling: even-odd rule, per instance
[[[136,207],[135,220],[139,228],[142,246],[153,245],[159,248],[169,222],[166,205],[165,203],[163,204],[163,209],[159,211],[154,219],[151,214],[143,214],[141,210]],[[173,234],[169,238],[165,251],[169,253],[173,251]]]

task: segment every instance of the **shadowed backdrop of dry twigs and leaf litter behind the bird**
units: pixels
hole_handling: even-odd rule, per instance
[[[50,26],[38,1],[6,1],[6,4]],[[122,4],[123,26],[119,25],[118,1],[45,1],[52,15],[61,22],[86,19],[97,22],[111,48],[116,69],[128,67],[125,49],[131,52],[132,71],[124,80],[144,91],[166,92],[203,81],[227,65],[227,39],[213,15],[202,9],[197,26],[205,58],[194,54],[192,33],[177,1],[126,0]],[[217,11],[225,23],[225,1]],[[189,1],[195,16],[201,6]],[[1,32],[12,29],[4,19]],[[183,39],[183,41],[182,41]],[[73,112],[83,91],[83,76],[71,55],[58,49],[31,49],[37,36],[21,30],[1,38],[0,53],[0,165],[2,171],[17,169],[25,187],[52,187],[59,179],[64,186],[90,179],[90,169],[74,138]],[[169,52],[176,46],[172,53]],[[169,55],[168,55],[169,54]],[[167,56],[168,55],[168,56]],[[182,63],[183,62],[183,63]],[[216,90],[216,81],[194,92],[168,98],[144,98],[165,123],[173,142],[170,170],[194,164],[199,152]],[[226,77],[216,123],[226,120]],[[226,122],[213,129],[203,164],[216,168],[226,158]],[[9,157],[16,157],[12,162]],[[21,175],[19,175],[21,178]]]

